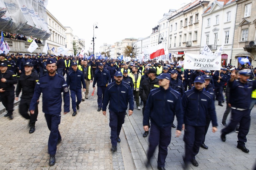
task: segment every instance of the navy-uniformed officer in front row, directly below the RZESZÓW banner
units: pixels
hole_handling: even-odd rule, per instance
[[[209,114],[212,120],[212,132],[217,131],[217,118],[215,113],[214,100],[209,92],[204,88],[205,80],[198,76],[194,81],[194,88],[188,90],[182,96],[182,107],[184,112],[184,142],[185,158],[184,167],[187,169],[188,163],[198,166],[195,156],[199,152],[200,145],[204,138],[206,126],[206,116]]]

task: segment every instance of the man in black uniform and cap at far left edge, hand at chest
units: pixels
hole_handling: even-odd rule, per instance
[[[13,119],[14,84],[17,84],[17,76],[14,72],[7,70],[6,63],[0,64],[0,71],[0,99],[7,111],[5,117]]]

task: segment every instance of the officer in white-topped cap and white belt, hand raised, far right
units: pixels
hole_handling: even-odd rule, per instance
[[[246,135],[249,132],[251,122],[249,109],[251,93],[256,89],[256,81],[249,80],[251,76],[251,70],[249,69],[241,70],[238,74],[240,78],[235,80],[236,73],[233,70],[228,81],[228,86],[230,87],[231,121],[226,128],[221,130],[221,140],[225,142],[226,135],[234,131],[237,123],[240,123],[236,147],[248,153],[249,150],[245,147],[245,142],[247,142]]]

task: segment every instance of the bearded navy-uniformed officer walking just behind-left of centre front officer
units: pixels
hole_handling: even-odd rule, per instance
[[[102,108],[102,101],[104,100],[105,90],[109,83],[111,83],[111,77],[109,71],[103,69],[103,64],[100,62],[98,64],[99,69],[95,71],[93,79],[93,89],[96,89],[95,84],[97,83],[97,96],[98,96],[98,112]]]

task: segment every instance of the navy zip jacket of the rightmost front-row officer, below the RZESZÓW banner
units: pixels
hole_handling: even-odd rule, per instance
[[[209,92],[196,88],[186,91],[182,96],[182,107],[185,125],[205,126],[209,114],[212,126],[218,126],[213,96]]]

